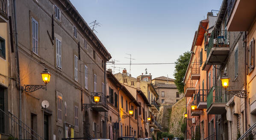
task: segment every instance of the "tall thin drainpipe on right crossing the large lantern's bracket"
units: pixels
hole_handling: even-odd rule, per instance
[[[247,90],[247,64],[246,64],[246,58],[247,58],[247,50],[246,50],[246,46],[247,46],[247,35],[246,32],[244,32],[244,36],[245,36],[245,41],[244,41],[244,90]],[[248,92],[247,92],[248,95]],[[245,111],[245,131],[247,131],[247,97],[244,98],[244,111]]]

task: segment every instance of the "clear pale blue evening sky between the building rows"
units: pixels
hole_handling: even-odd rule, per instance
[[[174,63],[190,51],[194,33],[207,12],[219,10],[222,0],[71,0],[89,24],[100,23],[94,33],[115,59],[115,73],[129,73],[132,63]],[[125,58],[127,57],[127,58]],[[122,65],[125,64],[125,65]],[[112,68],[108,64],[107,68]],[[121,67],[121,68],[118,68]],[[174,78],[175,64],[131,65],[132,77]]]

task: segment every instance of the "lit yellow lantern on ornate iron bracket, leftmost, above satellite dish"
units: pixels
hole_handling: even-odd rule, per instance
[[[33,92],[35,90],[38,90],[38,89],[46,89],[46,85],[47,83],[50,82],[50,73],[48,72],[48,70],[45,68],[44,71],[41,73],[41,76],[42,76],[42,80],[44,82],[45,85],[24,85],[24,86],[21,86],[21,89],[26,91],[26,92]]]

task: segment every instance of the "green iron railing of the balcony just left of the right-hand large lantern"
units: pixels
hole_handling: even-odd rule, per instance
[[[226,94],[222,94],[223,87],[212,87],[207,95],[207,109],[212,105],[212,103],[225,103],[227,102]]]

